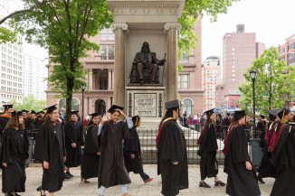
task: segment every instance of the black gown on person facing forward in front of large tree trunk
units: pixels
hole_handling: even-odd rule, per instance
[[[81,164],[83,142],[83,125],[81,122],[68,122],[64,126],[65,148],[67,151],[67,159],[64,163],[67,167],[77,167]],[[76,148],[72,148],[71,144],[75,143]]]

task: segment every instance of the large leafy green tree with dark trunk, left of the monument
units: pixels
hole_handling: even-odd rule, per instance
[[[33,10],[14,15],[16,29],[26,40],[46,47],[50,53],[53,91],[66,98],[66,114],[71,111],[72,93],[81,89],[85,71],[81,58],[87,51],[98,51],[99,45],[90,37],[112,22],[105,0],[47,0],[38,5],[36,0],[23,0]]]

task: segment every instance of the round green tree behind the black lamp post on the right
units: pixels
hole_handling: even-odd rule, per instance
[[[244,74],[246,82],[241,84],[239,90],[241,98],[239,105],[252,112],[252,79],[249,72],[257,71],[255,79],[255,108],[259,113],[266,113],[269,109],[282,107],[286,95],[291,93],[291,86],[295,82],[294,67],[286,67],[284,61],[279,61],[279,52],[271,47],[262,53],[262,56],[253,61],[252,67]],[[287,73],[287,74],[284,74]]]

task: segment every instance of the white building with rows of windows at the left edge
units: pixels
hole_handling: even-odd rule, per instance
[[[0,44],[0,105],[15,100],[23,101],[24,96],[24,53],[23,37],[17,35],[17,42]]]

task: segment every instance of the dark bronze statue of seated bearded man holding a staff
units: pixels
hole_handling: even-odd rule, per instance
[[[156,82],[156,73],[158,65],[163,65],[166,62],[165,59],[157,60],[156,53],[149,51],[148,42],[143,42],[141,51],[138,52],[132,62],[133,66],[137,66],[139,82],[144,83],[144,71],[150,74],[150,81]]]

